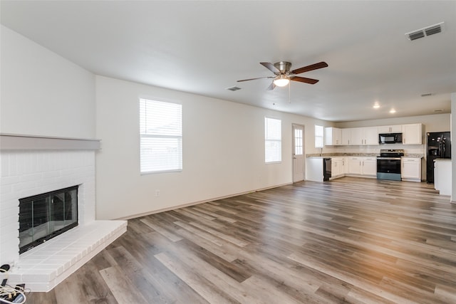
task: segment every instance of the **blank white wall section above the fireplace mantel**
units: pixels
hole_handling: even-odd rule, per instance
[[[1,26],[0,132],[93,138],[95,76]]]

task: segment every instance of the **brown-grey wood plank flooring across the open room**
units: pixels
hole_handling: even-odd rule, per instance
[[[456,303],[456,206],[344,177],[143,216],[27,303]]]

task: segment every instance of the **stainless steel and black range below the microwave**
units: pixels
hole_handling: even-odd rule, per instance
[[[400,181],[400,157],[404,150],[380,150],[377,157],[377,179],[390,179]]]

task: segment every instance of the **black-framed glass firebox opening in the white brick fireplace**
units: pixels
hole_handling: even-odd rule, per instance
[[[19,253],[78,226],[78,186],[19,199]]]

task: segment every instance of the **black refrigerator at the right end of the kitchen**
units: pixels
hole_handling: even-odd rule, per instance
[[[427,133],[427,164],[426,179],[428,183],[434,183],[434,159],[451,158],[450,132]]]

